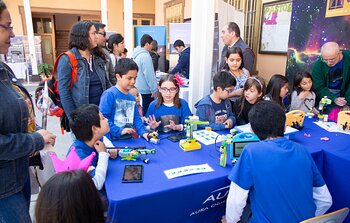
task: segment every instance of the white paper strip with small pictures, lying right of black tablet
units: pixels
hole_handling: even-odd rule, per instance
[[[187,176],[196,173],[205,173],[214,171],[207,163],[200,165],[183,166],[179,168],[174,168],[170,170],[164,170],[164,174],[168,179],[173,179],[175,177]]]

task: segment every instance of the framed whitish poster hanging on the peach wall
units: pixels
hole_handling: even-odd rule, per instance
[[[292,15],[292,1],[264,3],[259,53],[286,54]]]

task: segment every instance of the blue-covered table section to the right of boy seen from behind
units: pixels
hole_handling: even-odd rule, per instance
[[[305,118],[304,129],[291,140],[304,145],[311,153],[333,198],[329,212],[350,207],[350,135],[328,132]],[[304,133],[311,134],[305,137]],[[329,141],[320,138],[328,137]],[[350,223],[348,216],[345,223]]]

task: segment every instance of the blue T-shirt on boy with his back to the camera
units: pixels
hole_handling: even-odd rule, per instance
[[[314,217],[312,188],[325,184],[308,151],[284,137],[246,145],[229,179],[249,190],[251,223]]]

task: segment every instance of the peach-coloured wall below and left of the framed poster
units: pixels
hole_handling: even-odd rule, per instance
[[[262,3],[272,2],[275,0],[263,0]],[[262,5],[261,5],[262,6]],[[261,10],[261,9],[260,9]],[[257,18],[260,26],[261,18]],[[260,28],[259,28],[260,32]],[[258,39],[257,41],[260,41]],[[286,55],[274,55],[274,54],[260,54],[256,52],[256,70],[259,75],[262,76],[266,81],[270,80],[271,76],[274,74],[286,73],[287,65],[287,54]]]

